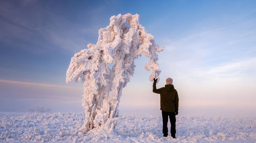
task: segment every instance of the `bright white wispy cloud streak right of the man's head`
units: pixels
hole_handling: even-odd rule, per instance
[[[180,77],[187,79],[190,82],[203,82],[209,86],[211,84],[223,84],[230,85],[236,82],[243,82],[244,84],[250,84],[250,78],[256,77],[256,58],[241,59],[225,64],[205,67],[195,67],[190,69],[189,73],[179,74]],[[202,85],[200,85],[202,86]]]

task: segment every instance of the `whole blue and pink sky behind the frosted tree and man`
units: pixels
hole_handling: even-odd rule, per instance
[[[83,111],[81,82],[66,83],[70,59],[126,13],[164,47],[157,88],[173,78],[180,112],[256,113],[255,1],[1,1],[0,111]],[[120,113],[159,113],[148,60],[136,59]]]

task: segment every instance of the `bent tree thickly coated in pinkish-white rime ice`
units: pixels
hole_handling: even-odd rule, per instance
[[[139,23],[139,15],[127,13],[112,16],[110,25],[99,30],[97,44],[88,44],[88,49],[71,58],[66,79],[67,83],[80,79],[83,83],[83,132],[113,130],[122,89],[134,73],[134,60],[143,53],[150,59],[145,64],[146,70],[152,69],[150,80],[159,79],[157,52],[162,50]]]

